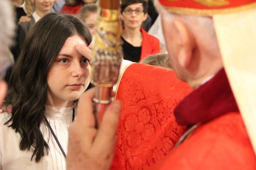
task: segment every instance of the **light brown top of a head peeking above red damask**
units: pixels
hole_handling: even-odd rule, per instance
[[[158,54],[150,55],[144,58],[143,60],[141,60],[139,63],[172,69],[167,53],[158,53]]]

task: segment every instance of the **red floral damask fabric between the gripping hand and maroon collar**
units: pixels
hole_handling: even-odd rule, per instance
[[[131,64],[116,94],[123,107],[111,169],[144,169],[166,155],[185,131],[173,110],[191,91],[170,69]]]

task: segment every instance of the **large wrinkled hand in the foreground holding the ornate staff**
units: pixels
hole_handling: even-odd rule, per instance
[[[93,88],[79,98],[76,117],[69,129],[67,170],[106,170],[112,164],[121,103],[114,101],[108,106],[99,129],[96,129],[94,96]]]

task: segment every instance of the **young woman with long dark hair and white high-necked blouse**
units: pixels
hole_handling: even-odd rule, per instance
[[[90,43],[74,15],[49,13],[28,32],[0,114],[0,169],[66,169],[68,128],[91,71],[74,47]]]

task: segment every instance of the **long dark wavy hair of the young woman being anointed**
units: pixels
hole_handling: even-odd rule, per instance
[[[4,111],[12,107],[11,119],[5,124],[20,134],[19,149],[34,148],[31,160],[39,162],[48,154],[49,146],[40,131],[45,123],[47,73],[67,38],[80,35],[89,45],[91,34],[84,22],[67,14],[49,13],[36,22],[27,33],[20,56],[16,61],[7,92]]]

